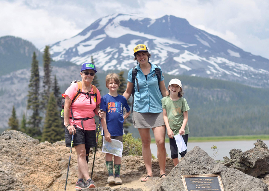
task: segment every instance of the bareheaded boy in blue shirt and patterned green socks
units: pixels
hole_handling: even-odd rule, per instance
[[[120,78],[116,73],[111,73],[106,76],[106,87],[109,93],[101,98],[100,109],[106,112],[106,115],[101,119],[106,141],[111,142],[111,139],[123,141],[123,122],[130,115],[130,107],[125,97],[117,93],[120,86]],[[123,108],[126,108],[126,113],[123,115]],[[120,179],[120,163],[121,158],[114,155],[115,176],[113,174],[112,154],[106,153],[106,167],[108,170],[108,184],[122,184]]]

